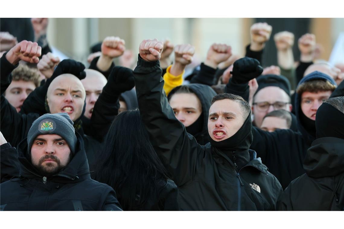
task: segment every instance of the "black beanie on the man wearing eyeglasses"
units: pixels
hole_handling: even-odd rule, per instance
[[[268,74],[268,75],[259,76],[257,77],[257,83],[258,83],[258,89],[255,95],[257,94],[259,90],[265,87],[274,86],[274,87],[279,87],[290,96],[290,82],[286,77],[282,75]]]

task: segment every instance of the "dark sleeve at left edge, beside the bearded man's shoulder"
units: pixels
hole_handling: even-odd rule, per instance
[[[0,183],[9,181],[13,176],[19,175],[19,161],[17,150],[8,142],[0,146]]]

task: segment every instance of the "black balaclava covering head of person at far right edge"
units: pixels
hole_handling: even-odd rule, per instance
[[[344,139],[344,114],[328,103],[323,103],[315,115],[316,138]]]

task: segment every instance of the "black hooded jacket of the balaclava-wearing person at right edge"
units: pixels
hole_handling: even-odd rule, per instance
[[[344,210],[344,139],[316,139],[307,151],[306,173],[286,188],[280,210]]]

